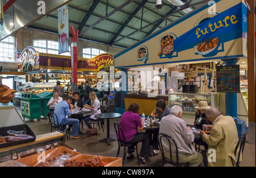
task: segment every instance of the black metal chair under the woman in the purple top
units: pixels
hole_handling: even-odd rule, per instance
[[[121,148],[121,147],[124,147],[122,165],[123,165],[123,163],[125,162],[125,157],[126,157],[126,153],[127,153],[126,147],[133,147],[133,149],[132,149],[131,151],[136,150],[137,159],[138,159],[138,163],[139,163],[139,155],[138,155],[138,147],[137,147],[137,144],[138,144],[138,143],[134,143],[134,144],[126,143],[126,142],[125,142],[125,136],[123,136],[123,130],[122,130],[121,126],[119,125],[119,123],[118,123],[118,122],[114,122],[114,127],[115,127],[115,133],[117,134],[117,141],[118,141],[117,156],[119,155],[120,148]],[[118,139],[118,138],[119,138],[119,139]],[[117,157],[117,156],[116,156],[116,157]],[[139,165],[141,165],[141,164],[139,163]]]

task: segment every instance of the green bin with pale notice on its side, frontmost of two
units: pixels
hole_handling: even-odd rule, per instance
[[[42,98],[31,93],[24,93],[20,98],[20,109],[23,119],[41,118],[41,100]]]

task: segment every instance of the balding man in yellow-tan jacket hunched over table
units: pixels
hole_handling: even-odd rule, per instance
[[[208,150],[201,152],[205,166],[232,166],[232,159],[236,160],[234,150],[238,142],[237,127],[234,119],[230,116],[221,115],[220,111],[214,107],[207,109],[205,114],[210,122],[213,123],[210,135],[205,134],[202,130],[200,131],[204,142],[209,145]]]

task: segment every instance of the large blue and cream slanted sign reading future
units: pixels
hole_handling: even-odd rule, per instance
[[[114,56],[115,68],[247,57],[244,0],[210,1]]]

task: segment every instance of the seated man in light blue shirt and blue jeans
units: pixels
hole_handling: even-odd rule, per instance
[[[67,116],[70,117],[72,114],[73,105],[71,104],[71,102],[72,102],[72,98],[67,96],[65,100],[59,102],[59,104],[55,106],[54,113],[57,115],[59,125],[73,125],[70,138],[77,139],[77,138],[80,138],[80,136],[77,136],[79,134],[79,120],[67,117]],[[60,129],[60,131],[64,131],[64,130],[65,128]]]

